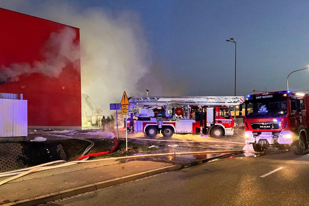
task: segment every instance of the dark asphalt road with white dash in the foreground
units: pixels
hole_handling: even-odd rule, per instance
[[[224,159],[49,205],[309,205],[309,155]]]

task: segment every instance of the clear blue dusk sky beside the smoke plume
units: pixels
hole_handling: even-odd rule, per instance
[[[21,2],[0,1],[0,6],[36,15],[35,10],[44,4]],[[265,87],[267,91],[286,90],[287,75],[309,64],[308,1],[63,2],[81,12],[103,7],[111,13],[138,15],[152,64],[163,65],[165,81],[184,83],[187,88],[182,95],[234,95],[235,44],[225,41],[229,38],[237,42],[239,96],[253,89],[265,91]],[[309,70],[292,74],[290,90],[309,89],[308,78]],[[182,84],[177,85],[181,90]]]

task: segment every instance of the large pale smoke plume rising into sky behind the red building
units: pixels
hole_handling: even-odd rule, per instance
[[[78,10],[59,1],[40,6],[23,3],[4,8],[80,28],[82,92],[105,115],[110,113],[109,103],[121,101],[123,91],[128,96],[146,96],[146,89],[150,95],[181,95],[184,91],[184,82],[177,83],[175,75],[161,67],[163,64],[153,63],[136,12],[102,7]]]

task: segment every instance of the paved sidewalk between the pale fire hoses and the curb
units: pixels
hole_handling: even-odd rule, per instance
[[[0,205],[7,203],[11,203],[11,205],[15,204],[32,205],[34,203],[33,201],[28,202],[27,204],[26,201],[20,201],[20,200],[37,198],[39,196],[48,195],[52,193],[54,193],[53,199],[56,200],[63,198],[64,195],[71,196],[74,193],[74,191],[72,190],[63,192],[65,190],[69,190],[72,188],[75,188],[76,190],[76,187],[81,186],[87,186],[86,188],[87,191],[103,187],[109,187],[111,185],[114,185],[115,181],[109,182],[109,185],[108,182],[103,182],[100,184],[99,182],[112,180],[115,178],[121,178],[118,179],[118,183],[116,183],[119,184],[134,180],[134,178],[135,179],[143,178],[153,174],[165,172],[167,171],[167,168],[164,171],[162,170],[161,172],[160,171],[150,172],[149,170],[160,169],[171,165],[173,164],[164,162],[155,162],[155,161],[128,161],[121,163],[119,161],[109,160],[109,161],[79,163],[76,165],[71,165],[63,168],[35,172],[17,178],[11,182],[7,182],[4,185],[0,186]],[[172,170],[172,167],[168,168],[171,168]],[[145,173],[146,171],[148,171],[149,175],[148,173]],[[142,172],[144,173],[140,174],[140,177],[138,177],[137,175],[134,175],[134,177],[128,176]],[[6,178],[0,178],[0,181]],[[83,191],[83,188],[80,188],[78,192],[79,193],[86,192]],[[48,199],[49,196],[47,196],[45,202],[51,201]]]

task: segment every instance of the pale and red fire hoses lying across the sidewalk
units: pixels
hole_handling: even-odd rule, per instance
[[[33,167],[30,167],[30,168],[25,168],[25,169],[21,169],[21,170],[5,172],[5,174],[4,173],[0,173],[0,177],[6,177],[6,176],[15,175],[13,177],[10,177],[10,178],[7,178],[7,179],[1,181],[0,182],[0,186],[2,184],[6,183],[6,182],[9,182],[11,180],[14,180],[16,178],[22,177],[22,176],[24,176],[26,174],[29,174],[29,173],[32,173],[32,172],[49,170],[49,169],[55,169],[55,168],[60,168],[60,167],[66,167],[66,166],[75,165],[75,164],[78,164],[78,163],[96,162],[96,161],[105,161],[105,160],[130,159],[130,158],[137,158],[137,157],[155,157],[155,156],[166,156],[166,155],[185,155],[185,154],[203,154],[203,153],[205,154],[205,153],[222,153],[222,152],[243,152],[243,150],[215,150],[215,151],[198,151],[198,152],[169,152],[169,153],[159,153],[159,154],[143,154],[143,155],[132,155],[132,156],[126,156],[126,157],[109,157],[109,158],[87,160],[89,157],[92,157],[92,156],[102,155],[102,154],[107,154],[107,153],[113,152],[116,149],[116,147],[118,146],[117,139],[114,138],[114,140],[115,140],[116,144],[112,148],[112,150],[109,150],[109,151],[106,151],[106,152],[97,152],[97,153],[88,154],[88,155],[85,155],[85,156],[82,156],[82,157],[78,158],[79,160],[77,159],[75,161],[66,162],[66,163],[63,163],[63,164],[60,164],[60,165],[44,166],[44,165],[50,165],[50,164],[54,164],[54,163],[58,163],[58,162],[63,162],[63,160],[59,160],[59,161],[53,161],[53,162],[45,163],[45,164],[42,164],[42,165],[33,166]],[[25,170],[27,170],[27,171],[25,171]],[[21,171],[21,172],[18,172],[18,171]]]

